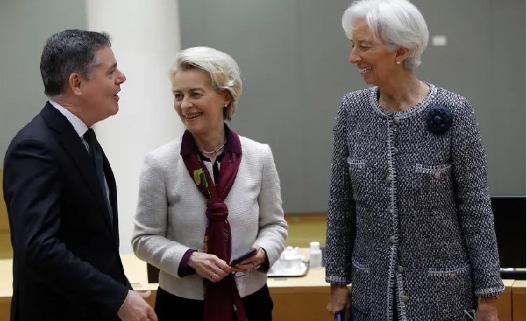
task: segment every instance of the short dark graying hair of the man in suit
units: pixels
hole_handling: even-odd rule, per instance
[[[91,78],[93,69],[100,64],[95,51],[109,46],[112,44],[105,32],[69,29],[49,37],[40,59],[46,96],[62,95],[71,74]]]

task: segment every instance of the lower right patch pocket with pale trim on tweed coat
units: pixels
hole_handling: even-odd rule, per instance
[[[429,268],[429,289],[434,292],[438,320],[451,320],[474,306],[472,271],[469,264],[453,268]]]

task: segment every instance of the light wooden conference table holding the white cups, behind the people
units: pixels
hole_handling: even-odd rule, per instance
[[[128,280],[137,291],[151,290],[149,303],[154,305],[156,283],[148,283],[147,266],[133,254],[122,254]],[[9,320],[13,294],[12,259],[0,260],[0,321]],[[324,281],[324,268],[310,269],[298,278],[269,278],[267,285],[274,301],[274,321],[331,321],[326,311],[329,285]],[[505,293],[498,299],[500,321],[526,320],[526,281],[503,280]]]

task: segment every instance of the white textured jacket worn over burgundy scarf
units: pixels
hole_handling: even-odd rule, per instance
[[[229,207],[232,258],[257,245],[265,249],[269,266],[285,247],[287,223],[281,206],[280,180],[272,151],[240,136],[241,163],[225,204]],[[203,278],[180,278],[178,268],[189,249],[203,252],[206,198],[189,175],[180,155],[181,137],[145,158],[140,173],[139,200],[132,246],[135,255],[156,266],[159,286],[175,296],[203,300]],[[236,278],[241,297],[258,291],[267,274],[254,271]]]

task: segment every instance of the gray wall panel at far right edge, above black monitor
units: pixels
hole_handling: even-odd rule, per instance
[[[490,79],[486,127],[491,191],[525,195],[526,186],[526,1],[491,0],[491,57],[482,69]]]

